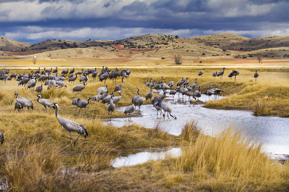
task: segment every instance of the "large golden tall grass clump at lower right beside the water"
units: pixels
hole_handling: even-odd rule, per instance
[[[201,134],[194,145],[183,149],[181,157],[171,166],[176,171],[191,172],[194,181],[208,185],[210,190],[242,191],[249,185],[262,190],[270,185],[282,186],[289,178],[288,164],[278,166],[261,148],[255,140],[228,128],[216,138]]]

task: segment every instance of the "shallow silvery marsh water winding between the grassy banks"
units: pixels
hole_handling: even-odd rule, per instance
[[[221,99],[223,97],[219,97]],[[182,126],[188,120],[197,120],[202,127],[202,133],[206,135],[214,136],[221,131],[227,129],[229,126],[240,130],[241,133],[246,134],[250,138],[257,139],[263,144],[263,151],[266,152],[273,159],[285,159],[288,160],[289,156],[289,118],[282,117],[257,117],[253,116],[251,111],[238,111],[238,110],[219,110],[208,109],[202,107],[202,104],[188,104],[188,96],[186,100],[175,95],[172,97],[166,97],[166,102],[172,105],[172,115],[177,119],[173,119],[171,116],[168,119],[167,115],[165,119],[160,117],[160,112],[157,116],[157,110],[148,105],[145,101],[145,105],[141,106],[141,110],[138,111],[137,107],[133,114],[137,115],[131,117],[128,120],[128,115],[124,115],[124,118],[113,118],[110,124],[113,126],[124,126],[132,123],[137,123],[140,126],[146,128],[153,128],[159,121],[162,128],[169,134],[179,135],[181,133]],[[214,99],[214,97],[210,97]],[[200,100],[203,102],[208,101],[208,96],[202,95]],[[126,107],[116,107],[117,111],[125,111]],[[150,159],[164,158],[168,151],[142,151],[139,154],[129,155],[128,157],[118,157],[113,163],[114,166],[127,166],[134,165],[140,162],[145,162]],[[175,149],[179,151],[180,149]]]

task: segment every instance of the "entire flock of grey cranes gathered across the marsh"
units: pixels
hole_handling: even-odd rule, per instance
[[[42,104],[46,111],[49,107],[54,108],[55,109],[55,115],[56,118],[58,119],[59,123],[61,124],[61,126],[63,128],[65,128],[69,134],[70,134],[70,138],[71,138],[71,147],[72,147],[72,137],[71,137],[71,132],[77,132],[78,134],[80,134],[79,136],[81,136],[81,134],[84,135],[84,138],[86,138],[88,136],[86,127],[83,126],[82,124],[79,124],[75,121],[72,121],[70,119],[66,119],[66,118],[62,118],[58,116],[58,104],[54,103],[51,100],[48,99],[44,99],[41,97],[41,92],[43,90],[43,83],[44,85],[47,85],[47,90],[51,89],[52,87],[55,88],[60,88],[60,87],[67,87],[66,84],[64,84],[64,80],[66,79],[66,75],[69,73],[68,76],[68,82],[73,83],[74,81],[77,79],[77,75],[79,75],[80,79],[79,82],[83,82],[83,85],[77,85],[73,88],[73,92],[79,92],[79,94],[81,93],[81,91],[86,87],[86,82],[88,81],[88,76],[89,74],[92,74],[92,78],[93,78],[93,82],[95,82],[96,77],[99,77],[99,81],[103,82],[104,81],[104,85],[105,82],[108,78],[112,79],[112,82],[115,84],[115,88],[114,91],[112,91],[112,93],[110,95],[108,95],[108,85],[105,85],[104,87],[99,87],[97,89],[97,95],[92,96],[91,98],[88,98],[87,101],[86,100],[81,100],[80,98],[74,98],[72,100],[72,104],[75,106],[75,115],[77,115],[77,108],[79,108],[78,111],[78,115],[80,113],[80,110],[82,108],[85,108],[85,115],[86,115],[86,107],[89,104],[90,100],[93,101],[97,101],[99,102],[101,100],[101,102],[103,104],[108,103],[107,109],[108,109],[108,120],[111,120],[111,114],[112,112],[116,109],[116,103],[119,102],[121,100],[121,90],[124,86],[124,82],[123,79],[126,78],[128,80],[129,74],[131,73],[131,71],[129,69],[126,70],[122,70],[119,71],[117,68],[116,70],[112,70],[110,72],[110,70],[108,70],[108,67],[102,67],[102,70],[100,73],[98,73],[96,71],[96,68],[93,70],[86,70],[84,71],[84,69],[81,69],[81,71],[75,73],[74,68],[69,72],[69,70],[63,70],[61,72],[61,75],[58,76],[58,69],[56,67],[56,69],[54,69],[52,71],[51,69],[46,69],[44,68],[43,71],[40,71],[40,68],[35,71],[35,73],[33,74],[33,71],[31,71],[30,73],[27,73],[27,75],[25,75],[25,73],[21,74],[19,73],[19,75],[17,76],[16,73],[13,73],[12,75],[10,75],[10,77],[8,77],[8,73],[9,70],[7,69],[6,71],[1,71],[0,73],[0,79],[3,80],[6,84],[7,80],[11,80],[12,78],[16,79],[18,82],[18,86],[19,85],[24,85],[25,87],[27,86],[27,89],[29,88],[30,91],[34,91],[34,87],[36,86],[36,79],[38,79],[39,82],[41,82],[41,86],[37,86],[35,88],[35,91],[38,93],[37,97],[37,102],[39,104]],[[223,74],[225,71],[225,67],[223,67],[223,71],[220,71],[219,73],[214,72],[213,73],[213,77],[216,78],[220,77],[220,79],[223,79]],[[49,75],[50,73],[54,73],[54,75]],[[75,76],[74,76],[75,74]],[[81,77],[82,75],[82,77]],[[198,76],[202,77],[203,75],[203,71],[200,71],[198,73]],[[239,71],[235,71],[232,70],[232,72],[229,74],[228,77],[232,78],[233,76],[235,76],[235,81],[236,81],[236,75],[239,75]],[[259,74],[256,73],[254,74],[254,78],[255,78],[255,83],[257,81]],[[121,81],[122,83],[119,85],[116,85],[116,78],[117,77],[122,77]],[[171,117],[173,117],[174,119],[177,119],[176,116],[173,116],[172,113],[172,107],[169,103],[164,102],[164,98],[166,97],[166,90],[171,89],[171,91],[169,92],[170,95],[173,95],[173,98],[175,96],[176,93],[178,94],[182,94],[183,96],[188,96],[188,103],[190,103],[190,98],[194,98],[195,100],[199,100],[199,97],[201,97],[201,91],[200,91],[200,86],[198,86],[198,90],[195,90],[194,92],[192,92],[194,90],[194,88],[197,85],[197,78],[195,78],[195,82],[189,84],[189,80],[188,77],[186,77],[186,79],[182,78],[181,81],[179,81],[177,83],[177,87],[175,89],[172,89],[174,82],[173,81],[169,81],[168,83],[163,83],[163,77],[161,77],[161,80],[158,80],[157,83],[155,83],[155,80],[153,78],[151,78],[149,81],[147,80],[144,84],[150,88],[150,92],[148,92],[144,97],[140,97],[139,95],[139,90],[137,90],[137,96],[134,96],[133,98],[131,98],[131,105],[126,107],[124,114],[128,114],[128,119],[131,118],[130,114],[133,113],[136,109],[136,105],[138,106],[138,110],[140,110],[141,105],[144,103],[145,100],[150,100],[149,104],[153,104],[153,107],[155,109],[157,109],[157,117],[158,117],[158,111],[161,111],[161,115],[163,114],[163,117],[165,118],[165,113],[167,112],[167,117],[168,115],[170,115]],[[220,94],[220,92],[224,92],[218,88],[213,88],[211,87],[211,85],[209,86],[210,89],[207,90],[205,92],[204,95],[210,96],[214,95],[215,97],[217,95]],[[157,95],[154,98],[153,97],[153,89],[160,92],[160,90],[163,90],[163,94]],[[114,92],[118,93],[118,96],[114,96]],[[224,92],[225,93],[225,92]],[[15,92],[14,95],[16,96],[16,103],[15,103],[15,109],[14,111],[17,109],[18,111],[20,111],[24,108],[29,109],[33,109],[33,103],[32,100],[28,100],[25,97],[21,97],[18,98],[18,92]],[[40,99],[41,98],[41,99]],[[110,118],[109,118],[110,115]],[[168,117],[169,118],[169,117]],[[78,137],[79,138],[79,137]],[[78,139],[77,138],[77,139]],[[74,146],[75,143],[77,141],[77,139],[74,142]],[[3,144],[4,143],[4,136],[3,134],[0,132],[0,143]]]

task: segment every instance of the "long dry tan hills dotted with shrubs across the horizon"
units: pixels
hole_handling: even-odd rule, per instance
[[[10,40],[13,41],[13,40]],[[15,41],[17,42],[17,41]],[[22,42],[18,42],[22,43]],[[181,38],[173,35],[139,35],[111,40],[46,40],[22,49],[26,54],[39,54],[44,58],[172,58],[181,54],[184,58],[288,58],[289,36],[270,36],[250,39],[231,33]],[[79,51],[89,48],[90,51]],[[74,50],[76,49],[76,50]],[[67,50],[67,51],[60,51]],[[16,55],[8,53],[9,55]],[[20,55],[20,54],[18,54]],[[22,57],[18,57],[22,58]],[[23,57],[28,58],[28,57]]]

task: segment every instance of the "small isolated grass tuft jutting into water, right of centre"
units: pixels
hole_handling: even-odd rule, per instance
[[[201,132],[201,126],[198,125],[196,120],[187,121],[181,128],[181,140],[193,142]]]

